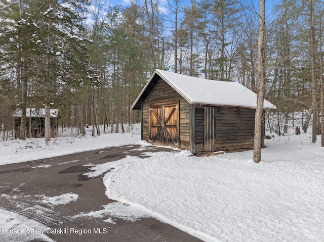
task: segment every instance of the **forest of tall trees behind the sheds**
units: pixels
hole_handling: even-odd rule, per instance
[[[264,97],[277,106],[268,129],[287,132],[290,114],[302,112],[315,142],[324,130],[324,5],[265,1],[265,9]],[[139,122],[130,108],[156,68],[256,92],[259,19],[252,0],[0,0],[2,138],[13,138],[13,112],[29,107],[60,109],[59,125],[81,134],[86,124],[93,135],[100,124],[124,130]]]

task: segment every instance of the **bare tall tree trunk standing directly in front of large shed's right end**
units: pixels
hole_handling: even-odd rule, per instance
[[[262,115],[264,100],[264,77],[265,77],[265,0],[260,0],[260,23],[258,39],[258,88],[257,88],[257,109],[255,112],[254,147],[253,161],[261,161],[262,146]]]

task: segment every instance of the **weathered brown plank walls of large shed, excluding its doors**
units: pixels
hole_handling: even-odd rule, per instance
[[[159,79],[142,103],[142,139],[149,142],[149,107],[153,104],[179,102],[180,148],[204,151],[204,107],[216,108],[216,150],[252,149],[255,110],[236,107],[191,105],[163,79]],[[190,122],[190,115],[194,120]],[[193,124],[191,129],[190,124]],[[190,142],[190,136],[194,140]]]

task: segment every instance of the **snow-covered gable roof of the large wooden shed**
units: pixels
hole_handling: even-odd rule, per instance
[[[134,102],[132,110],[141,109],[141,103],[159,78],[165,80],[190,104],[257,108],[257,94],[237,82],[208,80],[156,69]],[[276,109],[266,100],[263,108]]]

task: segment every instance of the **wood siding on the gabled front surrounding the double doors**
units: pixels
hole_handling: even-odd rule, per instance
[[[179,102],[180,148],[189,149],[189,103],[163,79],[159,79],[142,106],[142,139],[149,142],[149,107],[152,105]]]

